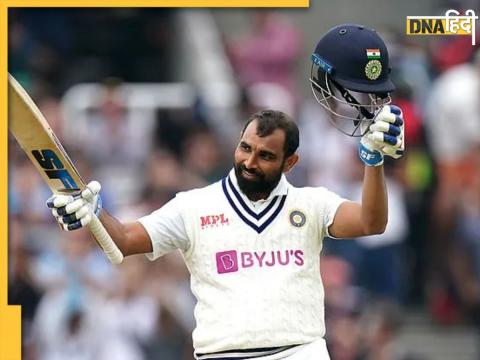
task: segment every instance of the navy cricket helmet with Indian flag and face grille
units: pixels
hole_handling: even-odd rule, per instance
[[[363,25],[338,25],[320,39],[311,61],[312,92],[332,124],[363,136],[395,90],[383,40]]]

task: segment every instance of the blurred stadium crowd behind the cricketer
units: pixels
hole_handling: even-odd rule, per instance
[[[355,142],[314,103],[309,55],[333,25],[375,27],[388,42],[407,154],[386,164],[386,233],[325,242],[331,356],[479,359],[480,57],[470,37],[406,37],[404,27],[407,15],[480,4],[311,3],[10,8],[9,71],[121,219],[220,179],[242,120],[264,107],[300,126],[302,160],[290,180],[354,199]],[[195,300],[180,256],[111,266],[88,234],[56,227],[44,206],[49,190],[12,139],[9,159],[9,302],[22,305],[23,358],[192,359]]]

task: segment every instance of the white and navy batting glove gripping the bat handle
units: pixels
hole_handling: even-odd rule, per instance
[[[93,216],[100,216],[102,198],[98,181],[88,183],[87,188],[75,195],[53,195],[47,206],[63,230],[71,231],[87,226]]]

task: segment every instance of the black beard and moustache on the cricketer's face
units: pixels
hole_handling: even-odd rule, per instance
[[[266,199],[273,189],[278,185],[283,173],[283,164],[278,171],[271,175],[259,173],[255,169],[247,169],[242,164],[234,164],[235,175],[237,177],[238,187],[251,200]],[[243,176],[243,172],[253,174],[255,179],[247,179]]]

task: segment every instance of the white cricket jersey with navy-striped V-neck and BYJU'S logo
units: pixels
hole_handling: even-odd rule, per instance
[[[196,354],[305,344],[325,334],[320,251],[344,199],[282,176],[250,201],[232,170],[139,221],[154,260],[180,249],[197,298]]]

